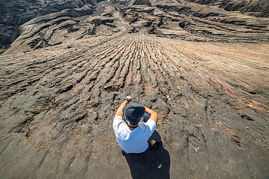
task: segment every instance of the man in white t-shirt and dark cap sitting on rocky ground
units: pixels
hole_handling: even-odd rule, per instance
[[[114,116],[113,129],[119,146],[126,153],[142,153],[148,148],[148,142],[161,142],[155,130],[158,115],[155,111],[138,103],[131,102],[127,96]]]

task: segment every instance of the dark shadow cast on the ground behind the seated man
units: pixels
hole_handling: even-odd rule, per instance
[[[163,148],[163,143],[155,143],[149,148],[143,153],[122,151],[132,178],[170,178],[170,155]]]

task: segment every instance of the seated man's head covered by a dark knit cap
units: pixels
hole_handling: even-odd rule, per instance
[[[131,124],[137,124],[145,114],[145,107],[138,103],[129,103],[123,110],[125,119]]]

